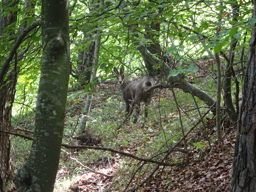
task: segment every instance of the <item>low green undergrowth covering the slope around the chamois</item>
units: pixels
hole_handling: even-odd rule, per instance
[[[198,80],[197,86],[203,88],[209,94],[214,93],[216,90],[216,84],[211,78],[207,78],[205,82]],[[207,86],[206,86],[207,85]],[[141,114],[138,122],[133,124],[134,113],[132,113],[129,123],[123,124],[124,122],[124,109],[125,103],[122,98],[122,92],[117,85],[97,85],[92,98],[92,105],[90,114],[87,119],[87,127],[95,133],[95,142],[91,145],[99,145],[102,147],[115,148],[120,151],[132,153],[135,156],[142,158],[151,158],[156,156],[157,159],[161,159],[164,156],[164,152],[172,148],[180,138],[182,138],[180,117],[174,102],[172,91],[169,89],[161,90],[159,96],[159,90],[155,91],[150,106],[148,108],[148,118],[144,117],[144,106],[141,105]],[[181,120],[186,133],[197,120],[200,118],[193,97],[184,93],[178,89],[174,89],[178,105],[181,109]],[[70,139],[69,136],[76,136],[76,129],[79,123],[79,117],[83,113],[84,104],[86,100],[86,94],[83,89],[73,90],[68,93],[67,110],[65,117],[64,127],[64,138],[63,142],[68,144],[84,144],[80,143],[76,139]],[[212,95],[215,97],[215,95]],[[208,108],[205,104],[196,98],[199,110],[203,115]],[[23,126],[21,122],[25,123],[25,128],[33,131],[34,126],[34,113],[27,113],[20,117],[13,117],[13,125]],[[206,117],[212,118],[213,115],[210,113]],[[206,122],[206,117],[204,121]],[[119,128],[119,129],[118,129]],[[203,130],[202,125],[199,124],[197,129]],[[208,145],[203,140],[194,140],[193,138],[187,140],[187,145],[193,148],[203,148]],[[12,156],[16,159],[15,166],[18,168],[26,162],[29,155],[29,148],[31,141],[26,141],[19,137],[12,138],[13,153]],[[183,143],[180,144],[180,148],[184,148]],[[104,167],[105,165],[116,161],[117,154],[109,151],[101,150],[81,150],[72,149],[66,151],[71,152],[71,156],[75,157],[79,162],[88,167]],[[173,162],[180,162],[183,156],[182,152],[177,152],[172,157]],[[114,158],[115,157],[115,158]],[[119,169],[116,170],[116,178],[119,181],[115,184],[115,188],[127,183],[132,172],[136,169],[138,164],[137,160],[130,157],[118,156]],[[155,164],[147,164],[139,173],[137,177],[142,174],[148,173],[154,169]],[[68,170],[68,175],[59,176],[55,184],[55,191],[65,191],[68,189],[67,183],[74,180],[77,175],[82,175],[85,170],[75,161],[70,160],[65,152],[61,152],[59,171],[61,169]],[[58,173],[59,174],[59,173]],[[61,175],[61,173],[59,174]]]

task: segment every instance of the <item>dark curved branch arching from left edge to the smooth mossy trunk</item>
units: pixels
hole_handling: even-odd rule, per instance
[[[41,20],[37,20],[33,23],[31,23],[27,28],[25,28],[21,34],[19,35],[19,37],[17,38],[16,42],[14,43],[14,45],[12,46],[12,49],[9,53],[9,55],[7,56],[7,58],[5,59],[1,71],[0,71],[0,82],[2,82],[2,80],[4,79],[4,76],[6,74],[6,70],[8,69],[8,66],[16,52],[16,50],[18,49],[18,47],[20,46],[20,44],[22,43],[22,40],[24,39],[24,37],[34,28],[36,28],[37,26],[41,25]]]

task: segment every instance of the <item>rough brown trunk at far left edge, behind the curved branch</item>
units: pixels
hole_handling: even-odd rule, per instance
[[[17,11],[15,12],[5,12],[5,8],[12,9],[18,1],[6,0],[3,2],[3,9],[1,11],[0,18],[0,36],[4,34],[4,28],[16,22]],[[9,19],[7,19],[9,15]],[[11,35],[14,31],[8,31]],[[16,66],[16,65],[15,65]],[[3,67],[3,66],[2,66]],[[17,67],[17,66],[16,66]],[[15,69],[17,69],[15,67]],[[3,77],[6,76],[9,66],[3,73]],[[12,101],[15,94],[16,78],[18,70],[12,70],[5,80],[0,80],[0,130],[10,131],[11,130],[11,117],[12,117]],[[7,82],[9,83],[7,84]],[[12,179],[12,167],[11,167],[11,157],[10,157],[10,136],[9,134],[0,134],[0,176],[3,182]]]

